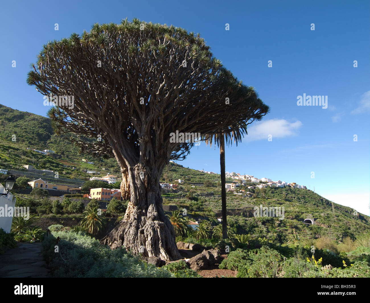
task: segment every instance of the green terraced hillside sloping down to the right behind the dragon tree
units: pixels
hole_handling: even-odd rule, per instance
[[[16,135],[16,141],[11,140],[13,134]],[[27,150],[27,147],[51,149],[55,154],[46,156]],[[83,158],[94,164],[82,162]],[[24,164],[33,164],[37,169],[58,171],[60,177],[71,179],[91,177],[84,173],[83,169],[97,170],[103,175],[110,172],[120,176],[115,159],[105,160],[79,154],[77,147],[71,145],[67,138],[54,134],[50,119],[0,105],[0,168],[21,170]],[[103,171],[102,168],[106,170]],[[164,192],[164,204],[188,209],[194,220],[207,217],[216,222],[216,217],[221,212],[220,175],[202,173],[170,162],[164,169],[161,181],[176,183],[175,180],[178,179],[185,180],[185,183],[177,191]],[[206,180],[210,181],[208,187],[203,186]],[[249,191],[244,187],[240,189]],[[275,237],[284,242],[288,241],[293,233],[300,234],[302,239],[328,236],[333,240],[342,241],[346,237],[355,239],[359,234],[370,231],[369,216],[355,216],[353,209],[339,204],[333,203],[332,206],[329,200],[311,190],[268,187],[266,190],[257,188],[252,192],[253,197],[227,193],[229,224],[237,233],[259,234],[267,239]],[[279,218],[271,217],[254,218],[253,207],[260,204],[264,207],[284,207],[285,219],[279,221]],[[303,223],[310,215],[316,224]]]

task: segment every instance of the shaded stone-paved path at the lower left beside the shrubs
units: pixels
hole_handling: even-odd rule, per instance
[[[41,243],[19,243],[18,247],[0,254],[0,277],[49,277],[49,269],[41,254]]]

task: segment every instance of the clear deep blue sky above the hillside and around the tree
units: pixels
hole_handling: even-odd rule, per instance
[[[174,24],[201,33],[214,56],[271,108],[238,147],[226,149],[227,171],[315,187],[369,214],[369,1],[92,2],[1,4],[1,104],[46,115],[49,107],[26,77],[48,40],[125,17]],[[327,96],[327,109],[297,106],[303,94]],[[201,143],[179,164],[219,173],[219,151]]]

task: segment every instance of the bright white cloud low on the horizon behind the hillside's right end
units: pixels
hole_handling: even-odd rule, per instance
[[[370,193],[340,193],[340,194],[321,194],[320,196],[333,201],[334,203],[349,206],[353,209],[357,210],[362,214],[366,214],[369,216],[369,200],[370,200]],[[335,209],[334,209],[335,211]]]

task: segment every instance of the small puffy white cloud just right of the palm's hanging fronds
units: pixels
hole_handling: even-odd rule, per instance
[[[284,119],[267,120],[248,127],[248,135],[244,136],[244,138],[247,141],[255,141],[268,140],[269,135],[272,135],[272,140],[275,138],[296,136],[298,129],[302,125],[301,121],[290,123]]]

